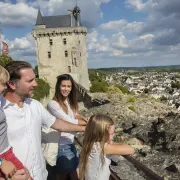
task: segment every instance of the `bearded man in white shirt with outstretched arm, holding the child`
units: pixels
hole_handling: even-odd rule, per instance
[[[60,132],[84,131],[85,127],[56,119],[40,102],[30,98],[37,83],[29,63],[14,61],[6,69],[10,80],[1,104],[7,118],[9,142],[31,177],[34,180],[46,180],[47,171],[41,150],[41,127],[51,127]],[[22,170],[12,179],[24,180],[27,177],[27,171]]]

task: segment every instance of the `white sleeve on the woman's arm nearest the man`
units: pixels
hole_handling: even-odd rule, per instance
[[[52,100],[48,103],[47,105],[47,109],[48,111],[55,116],[57,119],[61,119],[67,122],[70,122],[72,124],[78,124],[78,120],[75,118],[71,118],[70,116],[68,116],[63,109],[60,107],[60,105]]]

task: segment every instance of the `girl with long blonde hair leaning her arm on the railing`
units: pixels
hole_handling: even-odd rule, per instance
[[[113,144],[114,122],[105,115],[94,115],[88,121],[80,156],[80,180],[109,180],[110,160],[106,155],[131,155],[126,144]]]

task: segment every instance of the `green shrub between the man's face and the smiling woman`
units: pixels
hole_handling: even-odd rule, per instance
[[[43,79],[36,79],[38,86],[35,89],[33,98],[40,101],[41,99],[49,96],[50,86]]]

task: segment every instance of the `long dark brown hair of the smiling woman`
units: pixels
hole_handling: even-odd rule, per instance
[[[71,81],[72,89],[68,95],[68,100],[69,100],[71,109],[76,112],[78,110],[76,87],[75,87],[75,82],[73,78],[69,74],[62,74],[57,77],[57,82],[55,86],[55,94],[54,94],[53,100],[57,101],[60,104],[60,106],[63,108],[63,110],[67,113],[67,106],[64,103],[64,97],[60,91],[60,85],[62,81]]]

